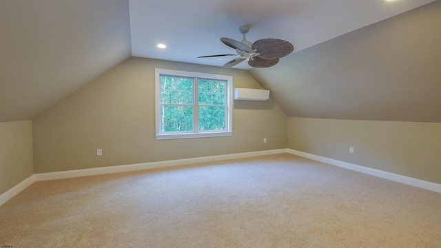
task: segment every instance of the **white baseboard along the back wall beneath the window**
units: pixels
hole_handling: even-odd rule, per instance
[[[238,154],[225,154],[225,155],[217,155],[217,156],[205,156],[199,158],[176,159],[172,161],[158,161],[158,162],[150,162],[150,163],[138,163],[132,165],[115,165],[108,167],[96,167],[91,169],[74,169],[63,172],[39,173],[39,174],[34,174],[34,176],[35,176],[35,180],[37,181],[54,180],[54,179],[62,179],[62,178],[74,178],[79,176],[110,174],[116,172],[131,172],[141,169],[163,168],[163,167],[171,167],[176,165],[188,165],[192,163],[206,163],[206,162],[220,161],[220,160],[234,159],[234,158],[248,158],[251,156],[263,156],[263,155],[280,154],[286,152],[287,152],[286,149],[272,149],[272,150],[258,151],[258,152],[244,152]]]

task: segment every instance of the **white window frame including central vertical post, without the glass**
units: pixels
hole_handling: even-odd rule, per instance
[[[161,76],[178,76],[193,78],[193,106],[194,110],[198,106],[198,83],[197,79],[222,80],[226,81],[225,87],[225,130],[220,131],[199,131],[198,111],[193,114],[193,130],[189,132],[161,132]],[[203,105],[201,105],[203,106]],[[196,125],[197,124],[197,125]],[[155,68],[155,125],[156,140],[177,139],[177,138],[204,138],[204,137],[220,137],[233,135],[233,76],[208,74],[201,72],[187,72],[181,70],[168,70]]]

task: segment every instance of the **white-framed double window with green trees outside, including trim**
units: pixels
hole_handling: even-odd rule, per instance
[[[232,135],[233,77],[156,69],[156,139]]]

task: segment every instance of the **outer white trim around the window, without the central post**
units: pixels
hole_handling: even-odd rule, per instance
[[[189,76],[203,79],[221,79],[227,81],[227,127],[223,131],[216,132],[183,132],[183,133],[161,133],[161,75],[170,76]],[[219,74],[207,74],[201,72],[186,72],[180,70],[168,70],[155,68],[155,123],[156,140],[176,139],[176,138],[205,138],[233,135],[233,77]],[[196,128],[196,127],[195,127]]]

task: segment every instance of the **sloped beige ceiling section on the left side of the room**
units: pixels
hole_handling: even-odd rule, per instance
[[[128,0],[1,0],[0,122],[32,119],[130,46]]]

